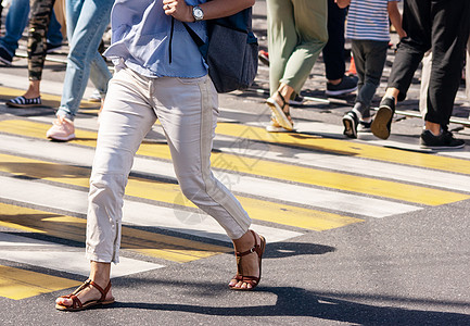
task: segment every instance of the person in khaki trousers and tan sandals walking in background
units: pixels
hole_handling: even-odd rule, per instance
[[[293,129],[289,100],[300,93],[328,41],[327,0],[267,0],[268,131]]]

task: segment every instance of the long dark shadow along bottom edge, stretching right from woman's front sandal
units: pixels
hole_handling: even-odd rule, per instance
[[[360,325],[470,325],[470,315],[461,313],[439,312],[429,310],[411,310],[392,306],[377,306],[356,303],[343,299],[330,298],[326,293],[316,293],[301,288],[262,287],[256,293],[272,293],[277,296],[274,305],[256,306],[204,306],[190,304],[116,302],[114,309],[139,309],[158,311],[180,311],[211,316],[307,316],[328,321],[338,321]],[[341,294],[331,293],[331,297]],[[347,299],[364,299],[361,296],[348,294]],[[376,301],[395,301],[409,303],[407,298],[381,298]],[[412,300],[410,300],[412,301]],[[419,300],[422,304],[459,305],[459,302],[429,302]]]

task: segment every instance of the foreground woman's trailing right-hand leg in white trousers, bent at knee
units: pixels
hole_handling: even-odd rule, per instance
[[[217,123],[217,93],[211,79],[158,78],[153,101],[172,152],[178,183],[185,196],[213,216],[233,240],[236,251],[254,246],[251,220],[240,202],[211,171],[211,150]],[[257,243],[259,236],[255,235]],[[259,275],[256,253],[243,256],[244,276]],[[234,286],[238,280],[233,279]],[[240,281],[238,287],[250,288]]]

